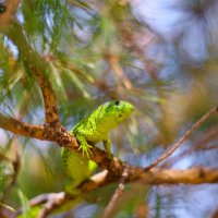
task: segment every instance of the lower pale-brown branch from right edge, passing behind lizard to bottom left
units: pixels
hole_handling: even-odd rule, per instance
[[[187,170],[169,169],[161,171],[160,169],[156,169],[155,171],[149,172],[143,172],[142,169],[142,173],[137,179],[136,177],[130,178],[128,175],[126,180],[129,182],[141,182],[144,185],[218,183],[218,169],[195,167]],[[102,171],[93,175],[90,180],[81,184],[78,189],[81,189],[81,191],[85,193],[85,195],[83,195],[84,197],[88,197],[87,194],[89,192],[104,185],[108,185],[111,182],[114,181],[108,180],[107,171]],[[49,208],[41,211],[41,217],[45,217],[44,215],[50,214],[58,207],[68,203],[68,201],[72,201],[72,197],[64,192],[60,192],[36,196],[29,203],[32,206],[36,206],[39,204],[50,205]]]

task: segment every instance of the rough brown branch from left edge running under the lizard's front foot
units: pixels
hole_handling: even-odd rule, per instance
[[[34,137],[43,141],[56,142],[61,147],[68,147],[73,152],[78,152],[78,144],[76,138],[59,123],[34,125],[0,113],[0,128],[14,134]],[[108,170],[111,169],[111,177],[121,175],[123,167],[125,167],[124,162],[118,160],[117,158],[108,157],[106,152],[97,147],[94,147],[92,152],[93,156],[90,159],[96,161],[100,168]]]

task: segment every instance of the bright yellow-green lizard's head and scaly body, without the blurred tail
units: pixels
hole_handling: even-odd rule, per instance
[[[83,154],[92,156],[92,146],[102,141],[105,149],[110,153],[109,132],[125,120],[134,110],[126,101],[113,100],[99,106],[90,116],[78,122],[71,131],[80,143]],[[73,179],[72,187],[76,187],[87,179],[96,168],[96,164],[80,154],[64,148],[62,154],[66,173]]]

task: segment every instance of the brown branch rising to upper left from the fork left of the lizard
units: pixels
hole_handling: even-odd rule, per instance
[[[57,108],[57,99],[48,78],[49,69],[46,61],[32,49],[19,23],[13,23],[7,32],[7,36],[17,46],[19,51],[24,57],[32,73],[36,76],[38,85],[41,89],[45,104],[45,121],[46,123],[59,122]]]

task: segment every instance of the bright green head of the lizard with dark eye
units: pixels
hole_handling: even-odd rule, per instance
[[[99,117],[109,129],[116,128],[120,122],[130,117],[134,106],[122,100],[108,101],[99,107]]]

